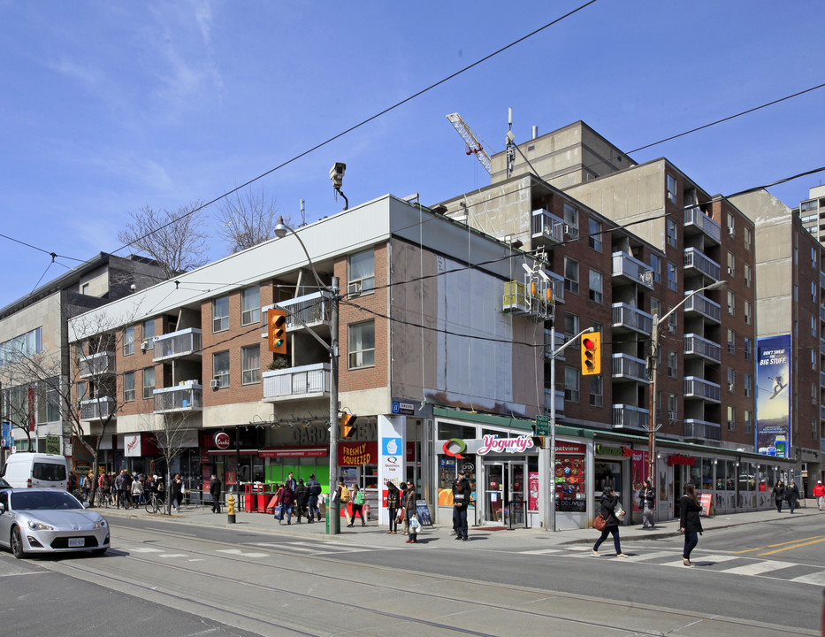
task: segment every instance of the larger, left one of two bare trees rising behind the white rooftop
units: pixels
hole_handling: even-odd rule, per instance
[[[149,205],[129,212],[132,220],[118,233],[118,241],[155,259],[167,279],[204,265],[207,239],[198,212],[201,202],[182,206],[178,211],[154,211]]]

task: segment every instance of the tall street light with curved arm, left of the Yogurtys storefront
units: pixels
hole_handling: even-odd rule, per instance
[[[284,218],[281,217],[278,220],[278,225],[275,226],[275,235],[279,239],[283,239],[286,236],[286,233],[290,232],[294,235],[295,239],[301,244],[304,254],[307,256],[307,261],[309,261],[309,267],[312,268],[312,273],[315,275],[315,280],[318,284],[318,288],[324,289],[331,294],[330,302],[332,303],[332,308],[330,310],[330,335],[332,344],[324,345],[327,351],[330,354],[330,499],[329,503],[327,503],[327,510],[329,511],[330,515],[330,535],[337,535],[340,533],[340,502],[338,500],[332,500],[332,494],[335,493],[335,490],[338,488],[338,333],[339,333],[339,322],[338,322],[338,302],[340,300],[340,296],[338,295],[340,288],[339,288],[339,279],[336,276],[332,277],[332,286],[325,286],[321,282],[321,277],[318,276],[318,272],[315,269],[315,264],[312,263],[312,258],[309,257],[309,252],[307,251],[307,247],[301,241],[301,237],[289,226],[284,223]],[[318,341],[321,341],[320,337],[315,334],[309,327],[309,332],[312,333],[313,336],[316,337]],[[323,341],[321,341],[323,342]]]

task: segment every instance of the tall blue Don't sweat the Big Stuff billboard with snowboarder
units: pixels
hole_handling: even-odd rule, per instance
[[[791,334],[760,338],[756,366],[756,450],[788,457],[791,449]]]

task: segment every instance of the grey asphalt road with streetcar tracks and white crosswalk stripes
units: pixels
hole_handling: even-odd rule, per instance
[[[625,560],[531,536],[405,545],[110,521],[103,557],[0,554],[4,634],[34,618],[58,635],[820,634],[819,517],[707,533],[693,569],[678,537],[626,541]]]

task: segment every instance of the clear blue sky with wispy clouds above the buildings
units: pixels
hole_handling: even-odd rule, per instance
[[[37,248],[0,237],[0,307],[118,249],[129,211],[210,201],[581,4],[0,0],[0,233]],[[254,188],[308,222],[340,211],[336,161],[351,205],[478,188],[454,111],[492,151],[508,107],[517,142],[582,119],[632,150],[825,82],[823,23],[814,0],[598,0]],[[634,158],[731,194],[825,165],[823,113],[825,88]]]

